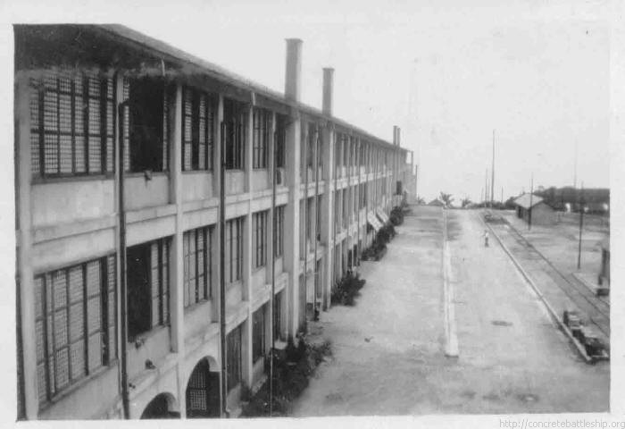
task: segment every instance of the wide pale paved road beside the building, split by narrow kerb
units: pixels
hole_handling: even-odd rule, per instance
[[[356,307],[313,329],[333,342],[294,416],[605,411],[609,366],[579,361],[483,226],[450,211],[460,356],[447,358],[440,209],[418,207],[378,263]]]

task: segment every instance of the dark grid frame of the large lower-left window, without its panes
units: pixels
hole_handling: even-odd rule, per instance
[[[90,266],[96,264],[97,284],[95,289],[89,290],[89,270]],[[112,366],[117,360],[117,278],[116,278],[116,255],[110,254],[104,257],[97,257],[81,262],[79,264],[67,265],[59,269],[39,273],[34,276],[35,288],[35,342],[36,342],[36,366],[38,389],[37,400],[39,408],[45,408],[47,404],[54,402],[56,398],[62,396],[66,391],[71,391],[75,386],[87,380],[90,377],[100,374],[102,368]],[[79,270],[77,272],[76,270]],[[57,275],[63,273],[64,284],[55,284]],[[80,286],[72,297],[71,284],[72,277],[77,279],[72,273],[79,274]],[[63,288],[61,305],[58,301],[56,287]],[[89,320],[92,311],[89,310],[89,301],[96,300],[97,311],[93,320]],[[57,301],[57,302],[55,302]],[[72,308],[80,306],[79,319],[74,319],[79,325],[72,325]],[[93,310],[94,308],[91,308]],[[62,328],[56,326],[57,315],[64,313],[65,324]],[[90,324],[97,321],[97,328],[90,329]],[[37,324],[41,324],[41,332],[38,331]],[[72,332],[77,332],[78,336],[73,337]],[[61,336],[65,337],[64,345],[58,347],[59,331]],[[92,362],[92,359],[98,355],[90,355],[89,350],[93,344],[90,339],[99,336],[99,361]],[[79,374],[73,374],[72,368],[72,347],[82,342],[82,365],[83,368]],[[67,360],[64,367],[67,369],[67,381],[63,385],[59,385],[57,374],[59,371],[58,352],[62,349],[67,350]],[[51,357],[51,355],[53,355]],[[95,364],[95,365],[94,365]],[[92,366],[94,365],[94,366]],[[40,368],[43,366],[43,368]],[[54,371],[53,371],[54,370]],[[40,373],[43,371],[43,374]],[[54,374],[53,374],[54,373]],[[42,382],[44,385],[42,385]]]

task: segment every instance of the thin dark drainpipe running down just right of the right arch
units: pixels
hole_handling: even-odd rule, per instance
[[[226,372],[226,124],[221,122],[221,163],[220,163],[220,341],[221,341],[221,416],[227,416],[228,374]]]

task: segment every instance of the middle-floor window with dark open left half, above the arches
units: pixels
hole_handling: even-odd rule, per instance
[[[128,336],[169,324],[170,240],[139,244],[126,251],[128,273]]]

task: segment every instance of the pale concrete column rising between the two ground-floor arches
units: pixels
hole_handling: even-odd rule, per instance
[[[185,359],[185,333],[184,333],[184,265],[182,236],[182,85],[176,84],[168,97],[169,121],[168,130],[170,141],[170,180],[171,180],[171,203],[176,205],[176,231],[171,242],[170,263],[170,299],[171,299],[171,350],[178,353],[178,391],[180,416],[187,416],[187,401],[185,393],[187,387],[187,374],[184,371]]]

